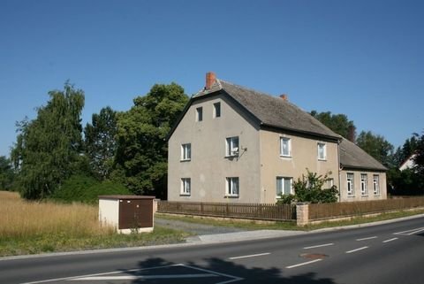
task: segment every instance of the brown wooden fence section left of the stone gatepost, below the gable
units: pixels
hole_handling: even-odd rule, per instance
[[[261,219],[272,221],[296,220],[296,206],[260,203],[183,203],[160,201],[157,211],[186,215],[223,218]]]

